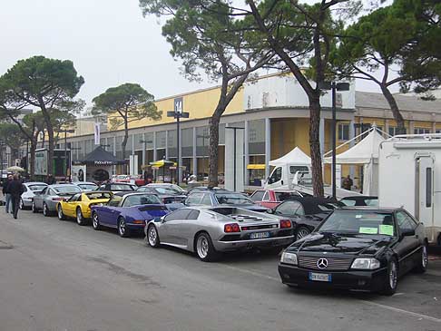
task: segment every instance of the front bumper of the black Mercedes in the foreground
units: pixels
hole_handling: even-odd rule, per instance
[[[309,280],[309,272],[328,274],[331,280],[329,282]],[[387,282],[387,268],[327,272],[279,263],[279,276],[283,284],[290,286],[378,291]]]

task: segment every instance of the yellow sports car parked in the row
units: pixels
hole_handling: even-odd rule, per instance
[[[85,225],[91,218],[91,206],[107,203],[113,193],[106,190],[81,192],[73,195],[69,200],[61,200],[56,205],[58,219],[76,219],[79,225]]]

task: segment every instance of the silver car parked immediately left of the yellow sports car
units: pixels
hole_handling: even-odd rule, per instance
[[[61,200],[68,200],[75,193],[82,190],[73,184],[54,184],[47,186],[41,193],[37,193],[32,200],[32,211],[43,210],[44,216],[50,216],[56,211],[56,205]]]

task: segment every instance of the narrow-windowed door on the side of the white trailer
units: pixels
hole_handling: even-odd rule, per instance
[[[416,201],[415,217],[426,227],[434,226],[434,158],[431,154],[416,158]]]

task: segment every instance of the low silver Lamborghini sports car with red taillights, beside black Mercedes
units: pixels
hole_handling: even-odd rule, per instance
[[[170,245],[212,261],[219,252],[245,248],[282,248],[293,241],[289,219],[237,207],[186,207],[144,228],[152,247]]]

